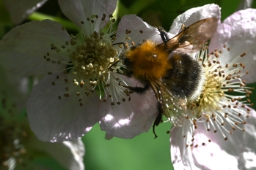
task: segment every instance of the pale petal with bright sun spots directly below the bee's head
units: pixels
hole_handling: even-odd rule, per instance
[[[122,76],[122,79],[131,86],[141,86],[132,79]],[[100,128],[106,131],[107,136],[120,138],[133,138],[148,131],[156,119],[156,96],[148,90],[145,94],[131,94],[131,101],[111,105],[111,100],[100,104],[100,114],[104,117],[100,120]]]

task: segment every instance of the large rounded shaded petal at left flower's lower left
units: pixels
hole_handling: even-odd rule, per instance
[[[56,75],[62,77],[62,82],[56,82]],[[64,78],[72,81],[72,77],[64,74],[52,74],[44,77],[34,86],[27,104],[30,127],[37,138],[42,141],[62,142],[76,139],[87,133],[98,117],[98,95],[91,93],[82,98],[80,106],[73,82],[64,83]],[[60,79],[60,78],[59,78]],[[56,85],[51,85],[56,82]],[[76,90],[76,89],[75,89]],[[70,93],[69,97],[63,97]],[[62,98],[59,100],[58,96]]]

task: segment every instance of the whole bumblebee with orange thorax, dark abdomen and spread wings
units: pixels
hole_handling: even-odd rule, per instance
[[[217,18],[206,18],[183,26],[179,34],[169,39],[161,27],[158,28],[163,43],[147,39],[140,45],[129,47],[122,53],[125,74],[142,83],[143,87],[122,85],[129,90],[143,94],[152,88],[157,99],[158,116],[155,127],[162,122],[162,115],[175,126],[181,126],[186,119],[186,104],[200,96],[204,83],[202,64],[191,58],[189,53],[202,47],[216,32]]]

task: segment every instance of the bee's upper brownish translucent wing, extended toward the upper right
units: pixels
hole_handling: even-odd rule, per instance
[[[167,51],[182,50],[185,53],[193,53],[202,50],[203,45],[211,39],[218,28],[217,18],[206,18],[186,27],[178,35],[167,42],[158,45]]]

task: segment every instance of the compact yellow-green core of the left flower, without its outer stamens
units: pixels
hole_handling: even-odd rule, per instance
[[[117,50],[108,39],[103,39],[104,34],[94,31],[89,36],[84,36],[84,41],[76,45],[76,50],[70,55],[73,64],[72,73],[78,77],[94,80],[92,85],[99,81],[105,82],[108,68],[117,61]],[[76,43],[75,43],[76,44]]]

